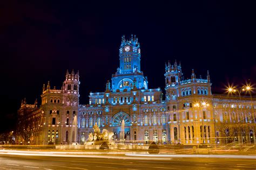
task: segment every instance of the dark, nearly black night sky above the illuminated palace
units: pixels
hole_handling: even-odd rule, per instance
[[[31,3],[32,2],[32,3]],[[253,1],[154,3],[0,3],[1,124],[14,129],[21,100],[40,98],[44,83],[60,88],[79,70],[80,104],[104,91],[119,67],[121,37],[136,34],[149,88],[164,90],[165,62],[181,61],[185,78],[210,71],[213,93],[229,83],[256,83]]]

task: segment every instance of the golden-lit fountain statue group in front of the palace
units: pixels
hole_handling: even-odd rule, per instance
[[[89,134],[89,138],[87,141],[96,141],[96,140],[112,140],[112,137],[114,135],[113,132],[109,132],[106,129],[102,130],[102,133],[100,133],[100,129],[97,125],[97,123],[95,123],[95,125],[92,127],[94,133],[90,133]]]

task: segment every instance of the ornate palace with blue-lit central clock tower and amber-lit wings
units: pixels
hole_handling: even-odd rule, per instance
[[[255,143],[255,97],[212,94],[209,72],[203,79],[192,70],[184,79],[175,61],[165,66],[163,100],[160,88],[148,88],[136,36],[122,37],[119,60],[106,90],[91,92],[89,104],[79,103],[79,73],[73,71],[66,72],[61,89],[43,86],[39,108],[23,101],[19,123],[29,120],[24,129],[30,143],[83,143],[95,123],[118,141],[123,120],[125,140],[135,143]]]

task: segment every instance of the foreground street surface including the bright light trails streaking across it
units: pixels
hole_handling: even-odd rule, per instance
[[[207,158],[207,155],[187,158],[186,155],[14,152],[0,151],[0,169],[256,169],[255,155],[248,155],[248,158],[219,158],[218,155],[213,155],[215,158]]]

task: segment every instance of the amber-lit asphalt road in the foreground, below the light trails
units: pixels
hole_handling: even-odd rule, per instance
[[[139,157],[138,159],[134,159],[134,157],[133,159],[129,159],[129,157],[112,159],[1,155],[0,169],[256,169],[255,159],[148,159]]]

